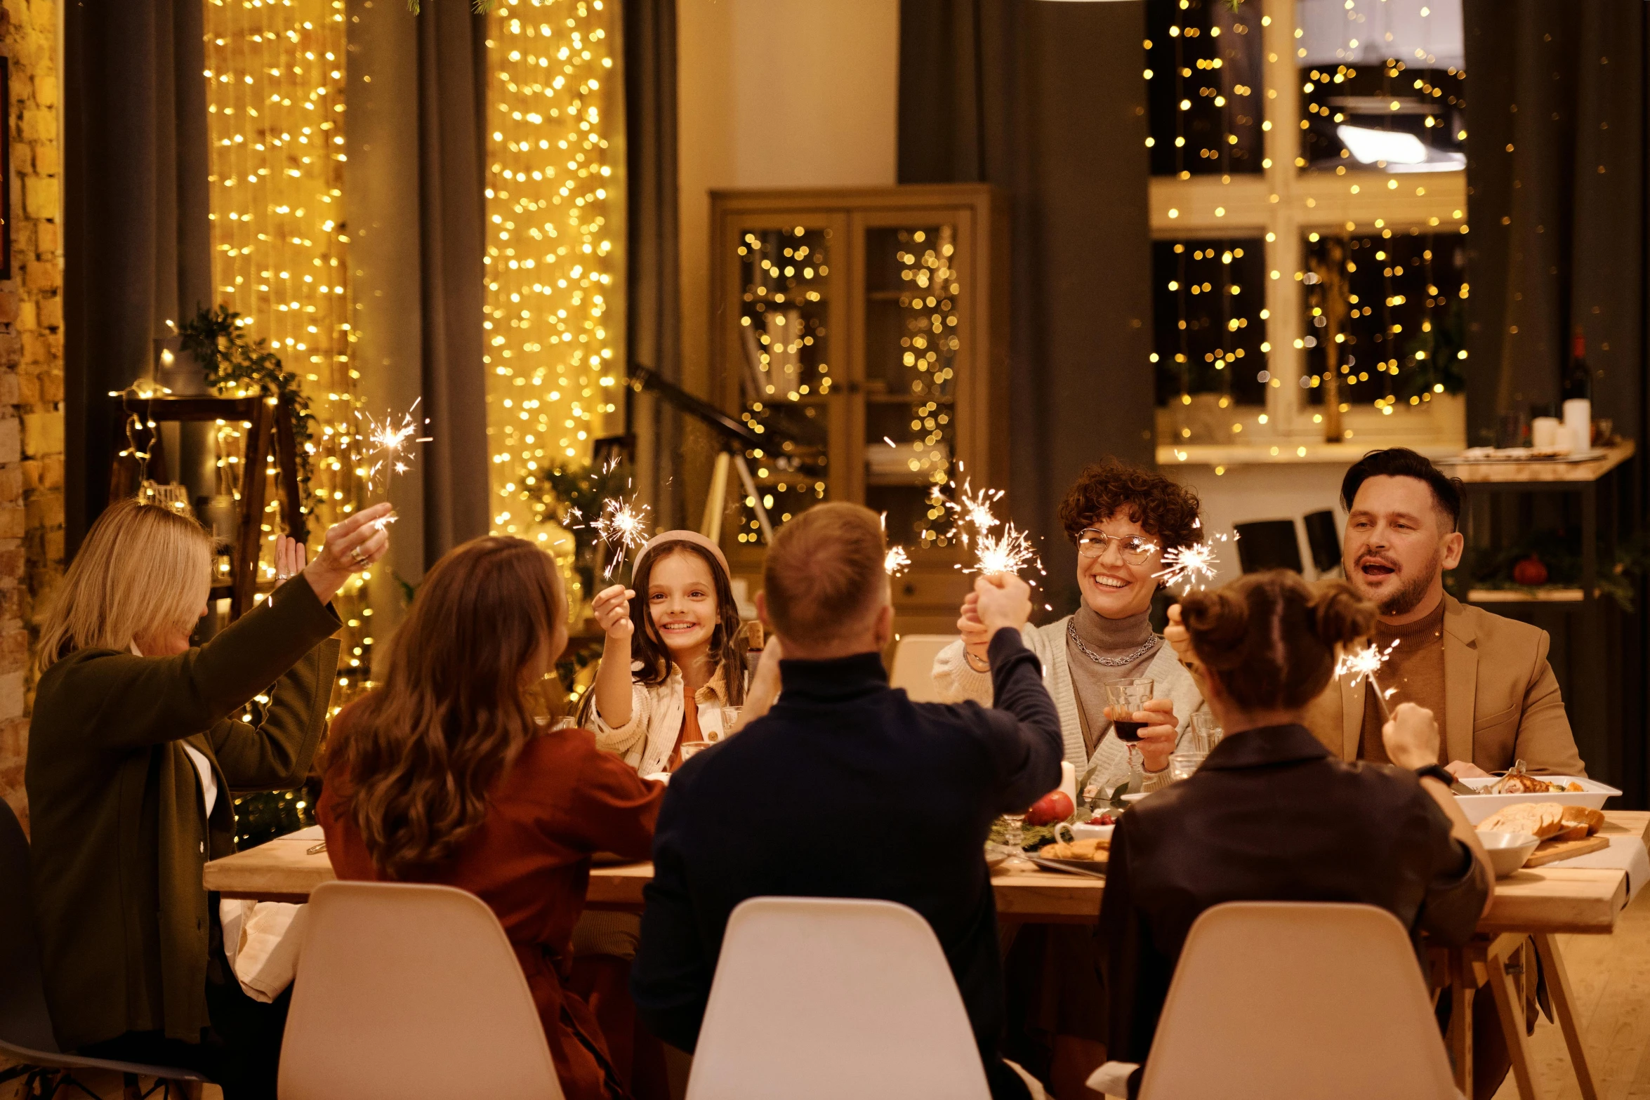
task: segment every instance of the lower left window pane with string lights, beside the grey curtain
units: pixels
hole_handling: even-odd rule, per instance
[[[1266,241],[1152,244],[1157,402],[1218,393],[1266,404]]]

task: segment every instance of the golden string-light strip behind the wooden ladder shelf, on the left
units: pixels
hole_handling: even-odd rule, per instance
[[[343,0],[205,0],[206,125],[211,143],[211,247],[218,303],[243,315],[305,383],[317,417],[310,445],[310,541],[353,511],[365,468],[351,457],[355,379],[343,234]],[[219,425],[219,468],[236,460],[239,427]],[[234,478],[226,477],[226,488]],[[266,546],[280,531],[269,493]],[[266,559],[264,577],[274,576]],[[361,579],[340,595],[346,670],[370,666],[371,609]],[[335,703],[340,696],[335,694]]]

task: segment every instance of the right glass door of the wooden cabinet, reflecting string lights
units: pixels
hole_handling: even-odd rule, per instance
[[[860,473],[891,544],[940,548],[952,541],[939,498],[960,454],[959,371],[967,374],[964,234],[955,216],[903,218],[863,231]]]

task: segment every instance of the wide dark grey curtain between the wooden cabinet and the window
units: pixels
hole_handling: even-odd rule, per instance
[[[1143,36],[1140,3],[899,5],[899,181],[1011,198],[1008,506],[1068,604],[1061,495],[1155,455]]]

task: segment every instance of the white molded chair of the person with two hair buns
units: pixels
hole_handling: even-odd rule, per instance
[[[1134,1065],[1089,1088],[1122,1095]],[[1140,1100],[1460,1100],[1409,933],[1374,905],[1231,902],[1198,917]]]

